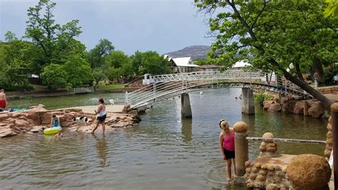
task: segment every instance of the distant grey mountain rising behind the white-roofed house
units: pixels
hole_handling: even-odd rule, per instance
[[[188,46],[181,50],[173,51],[165,55],[168,55],[173,58],[190,56],[191,59],[196,60],[196,59],[206,59],[207,58],[206,54],[208,51],[211,51],[210,46]]]

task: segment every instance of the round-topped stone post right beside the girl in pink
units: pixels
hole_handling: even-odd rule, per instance
[[[247,139],[247,124],[240,121],[234,124],[235,131],[235,164],[236,175],[235,181],[240,184],[245,184],[245,161],[249,160],[249,149]]]

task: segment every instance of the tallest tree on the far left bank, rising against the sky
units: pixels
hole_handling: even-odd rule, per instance
[[[70,48],[73,38],[81,34],[81,27],[78,20],[72,20],[64,25],[56,24],[53,19],[53,9],[56,3],[50,0],[40,0],[39,3],[30,7],[28,11],[29,20],[26,21],[26,38],[41,49],[41,57],[36,63],[40,68],[51,63],[60,63],[61,56],[64,52],[71,52]],[[66,54],[64,56],[68,56]],[[39,74],[40,71],[37,72]]]

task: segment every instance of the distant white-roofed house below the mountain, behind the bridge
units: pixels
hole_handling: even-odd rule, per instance
[[[193,60],[190,57],[180,57],[180,58],[170,58],[165,57],[170,62],[170,68],[173,70],[173,73],[188,73],[195,71],[195,68],[199,66],[194,64]]]

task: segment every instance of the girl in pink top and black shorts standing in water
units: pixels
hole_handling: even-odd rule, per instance
[[[231,165],[232,161],[234,163],[235,175],[236,175],[236,165],[235,165],[235,131],[230,129],[227,121],[222,119],[220,121],[220,151],[222,152],[223,159],[226,161],[227,168],[227,181],[231,181]]]

